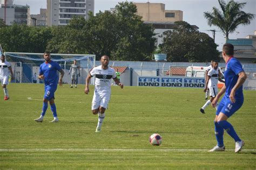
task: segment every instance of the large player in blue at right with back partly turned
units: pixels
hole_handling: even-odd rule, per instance
[[[247,76],[242,69],[241,63],[233,57],[234,46],[232,44],[224,44],[223,46],[223,59],[226,62],[226,69],[224,72],[225,84],[220,92],[216,95],[212,102],[212,107],[216,107],[216,104],[221,95],[224,95],[216,112],[214,119],[215,124],[215,136],[217,139],[217,145],[209,152],[213,151],[225,151],[223,142],[224,130],[235,141],[235,153],[241,151],[244,141],[242,141],[238,134],[235,132],[233,126],[227,122],[227,119],[231,117],[235,111],[241,108],[244,102],[244,95],[242,94],[242,84],[245,82]]]

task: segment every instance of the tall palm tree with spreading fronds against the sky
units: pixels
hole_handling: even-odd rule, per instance
[[[213,7],[212,12],[204,12],[204,17],[208,20],[208,25],[215,25],[220,28],[227,41],[228,34],[234,32],[240,24],[249,25],[251,20],[254,19],[254,15],[241,11],[246,3],[238,3],[234,0],[228,3],[225,3],[224,0],[218,1],[222,11]]]

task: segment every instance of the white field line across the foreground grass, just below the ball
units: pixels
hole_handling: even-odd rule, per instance
[[[139,152],[139,151],[162,151],[162,152],[207,152],[206,149],[122,149],[122,148],[17,148],[17,149],[0,149],[0,152],[52,152],[52,151],[107,151],[107,152]],[[225,150],[234,151],[234,150]],[[255,152],[256,149],[244,149],[242,152]]]

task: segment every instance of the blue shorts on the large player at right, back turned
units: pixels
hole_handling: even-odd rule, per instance
[[[227,117],[230,117],[241,108],[242,103],[244,103],[244,99],[235,100],[235,103],[232,103],[230,98],[224,96],[216,111],[216,115],[218,116],[220,112],[223,112]]]

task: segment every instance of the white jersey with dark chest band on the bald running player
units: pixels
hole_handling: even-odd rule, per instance
[[[107,67],[107,69],[102,69],[102,66],[97,66],[93,68],[90,72],[91,76],[95,76],[95,89],[102,91],[104,93],[111,93],[111,79],[116,78],[116,71]]]

